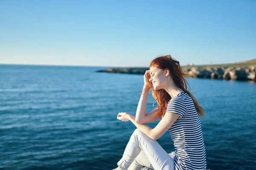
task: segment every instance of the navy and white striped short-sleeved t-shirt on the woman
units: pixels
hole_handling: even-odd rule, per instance
[[[166,112],[180,117],[169,129],[175,147],[175,170],[206,170],[201,122],[192,98],[182,92],[170,99]]]

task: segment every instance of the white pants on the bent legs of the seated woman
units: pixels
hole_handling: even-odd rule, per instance
[[[143,166],[154,170],[174,170],[171,156],[157,143],[142,133],[134,130],[125,147],[122,159],[117,162],[121,170],[140,170]]]

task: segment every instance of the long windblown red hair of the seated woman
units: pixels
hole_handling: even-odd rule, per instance
[[[195,105],[195,109],[198,112],[198,115],[204,116],[204,109],[198,104],[195,97],[189,92],[190,87],[184,77],[186,76],[186,74],[184,74],[184,72],[180,68],[180,62],[173,59],[170,55],[166,55],[166,56],[161,56],[153,59],[150,62],[150,67],[156,67],[161,70],[168,68],[175,85],[178,88],[182,89],[184,92],[186,92],[192,98]],[[148,86],[147,88],[145,88],[145,91],[148,91],[152,87],[153,87],[152,83],[151,84],[148,83]],[[155,99],[154,102],[157,102],[158,111],[156,115],[161,116],[161,118],[163,118],[164,114],[166,113],[167,104],[169,100],[172,99],[172,97],[164,89],[160,89],[160,90],[153,89],[152,96]]]

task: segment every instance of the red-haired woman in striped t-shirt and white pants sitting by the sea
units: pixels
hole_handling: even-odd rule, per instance
[[[157,57],[145,72],[143,93],[136,117],[118,113],[117,119],[131,121],[137,129],[125,148],[115,170],[140,170],[143,166],[154,170],[206,170],[206,153],[199,116],[204,110],[187,90],[180,63],[170,55]],[[149,89],[157,101],[157,108],[146,114]],[[145,125],[160,119],[153,129]],[[174,158],[157,143],[166,131],[175,147]]]

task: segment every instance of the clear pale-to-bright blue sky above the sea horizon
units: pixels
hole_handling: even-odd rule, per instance
[[[256,0],[0,0],[0,63],[148,66],[256,58]]]

